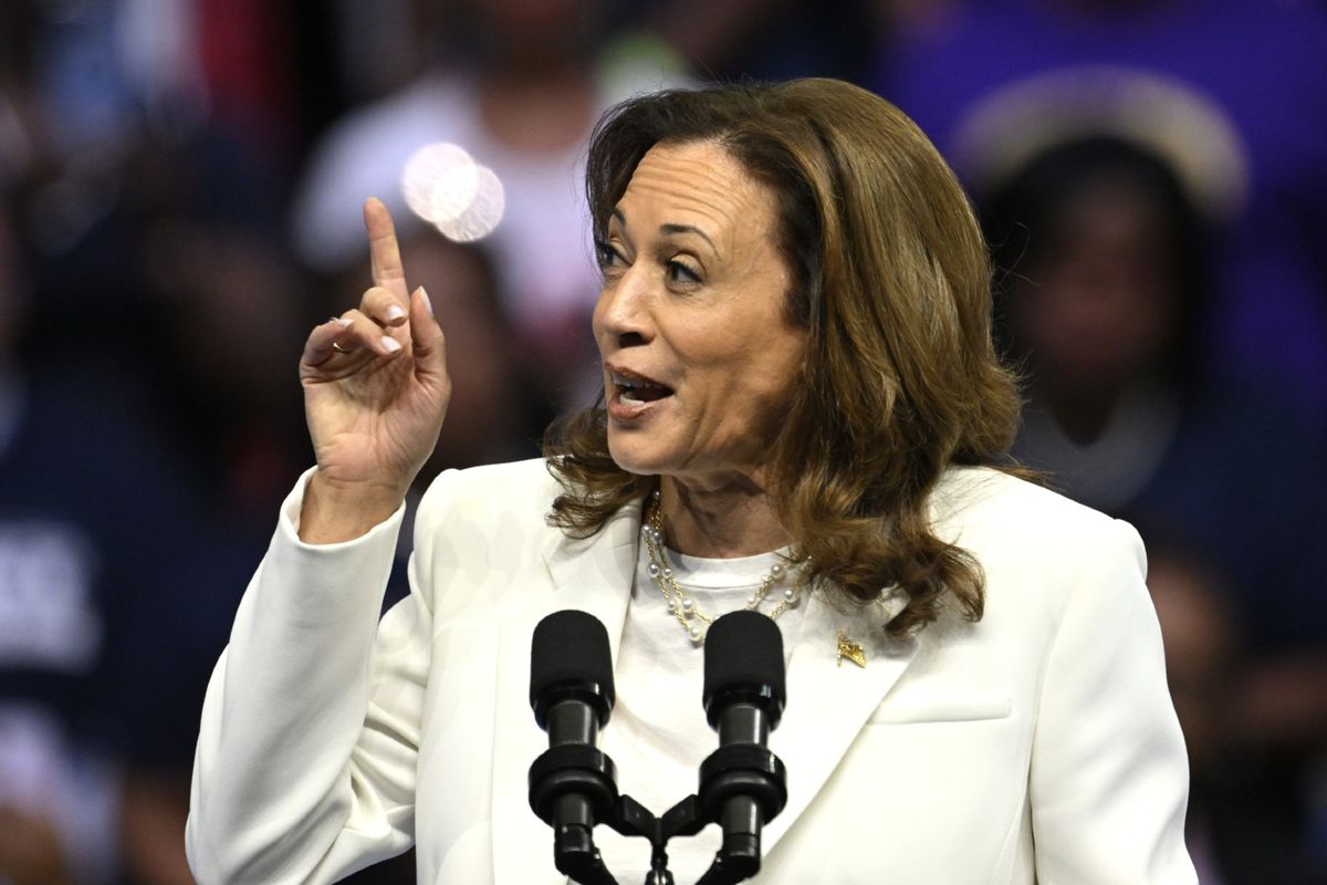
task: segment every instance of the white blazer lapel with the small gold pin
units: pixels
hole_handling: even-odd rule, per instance
[[[788,804],[764,828],[768,854],[839,766],[867,719],[917,653],[917,641],[890,640],[881,629],[902,609],[888,597],[873,608],[837,608],[815,594],[788,665],[788,703],[770,748],[788,771]],[[877,617],[878,613],[878,617]],[[867,665],[839,659],[839,634],[861,646]]]

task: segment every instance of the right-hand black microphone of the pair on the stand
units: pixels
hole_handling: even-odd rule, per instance
[[[701,764],[699,800],[723,828],[701,882],[740,881],[760,870],[760,829],[788,801],[787,771],[766,740],[787,703],[783,636],[758,612],[731,612],[705,634],[705,715],[719,748]]]

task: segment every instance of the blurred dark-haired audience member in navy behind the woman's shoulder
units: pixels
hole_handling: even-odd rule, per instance
[[[1322,642],[1327,447],[1282,391],[1206,370],[1208,228],[1172,167],[1078,139],[983,203],[1002,330],[1028,372],[1015,452],[1084,503],[1181,527],[1230,573],[1255,647]]]

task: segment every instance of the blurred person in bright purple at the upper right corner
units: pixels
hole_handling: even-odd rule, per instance
[[[1214,249],[1209,364],[1327,419],[1327,11],[1307,1],[943,4],[882,49],[872,85],[970,180],[1058,125],[1185,145],[1233,214]],[[1186,101],[1172,101],[1185,96]],[[1064,134],[1071,134],[1066,131]]]

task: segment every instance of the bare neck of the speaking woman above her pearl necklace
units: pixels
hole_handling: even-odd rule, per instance
[[[766,490],[748,478],[702,486],[664,476],[660,510],[669,547],[687,556],[755,556],[790,541]]]

